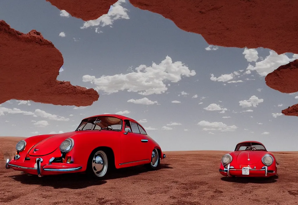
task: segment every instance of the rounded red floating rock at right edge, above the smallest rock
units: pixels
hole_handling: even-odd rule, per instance
[[[283,93],[294,93],[298,91],[298,60],[269,73],[265,77],[266,85]]]

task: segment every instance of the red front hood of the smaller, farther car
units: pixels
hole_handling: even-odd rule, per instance
[[[238,164],[256,164],[262,159],[262,157],[266,153],[267,152],[256,151],[256,150],[240,151],[240,153],[237,156],[237,163]]]

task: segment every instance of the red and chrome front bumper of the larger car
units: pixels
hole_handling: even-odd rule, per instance
[[[22,171],[24,173],[38,175],[41,177],[42,175],[53,175],[53,174],[60,174],[60,173],[69,173],[81,170],[82,167],[78,164],[72,163],[43,163],[44,160],[39,157],[36,158],[35,163],[30,162],[22,162],[16,161],[12,159],[9,161],[7,159],[5,168],[9,169],[12,168],[13,170]]]

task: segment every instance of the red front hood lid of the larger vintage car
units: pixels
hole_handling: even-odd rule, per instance
[[[31,156],[44,156],[54,152],[59,146],[61,142],[65,139],[74,136],[77,134],[76,132],[66,132],[57,135],[50,136],[40,142],[38,142],[35,146],[31,148],[29,154]],[[35,151],[34,151],[35,150]]]

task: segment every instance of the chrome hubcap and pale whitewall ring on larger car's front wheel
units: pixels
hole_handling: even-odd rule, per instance
[[[93,172],[96,176],[102,177],[107,172],[108,158],[105,152],[97,151],[92,160]]]

